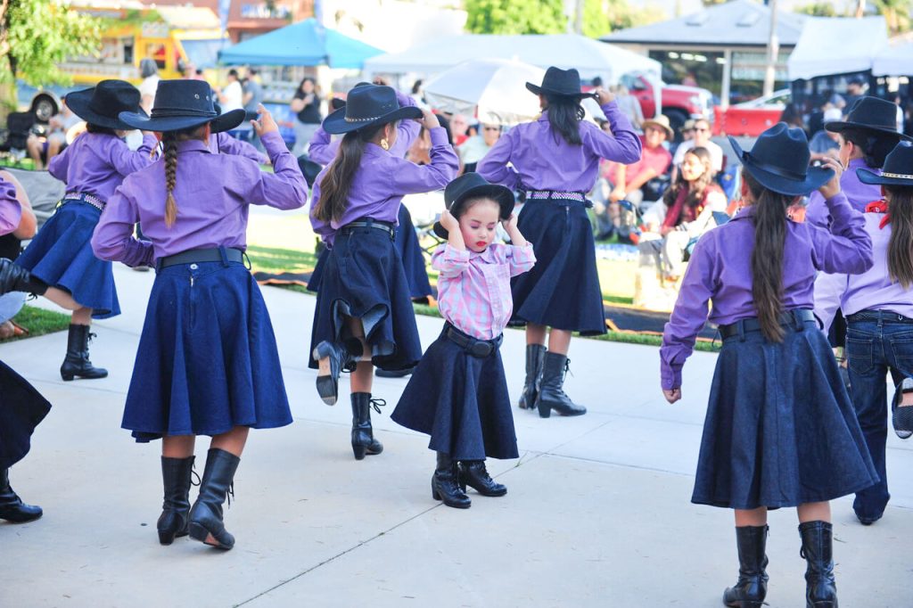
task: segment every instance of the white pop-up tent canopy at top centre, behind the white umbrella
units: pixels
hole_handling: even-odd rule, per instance
[[[471,59],[514,59],[548,68],[577,68],[582,79],[600,77],[614,84],[628,72],[645,72],[658,78],[658,61],[614,45],[576,34],[498,36],[463,34],[412,47],[401,53],[370,58],[364,63],[373,74],[422,74],[431,76]]]

